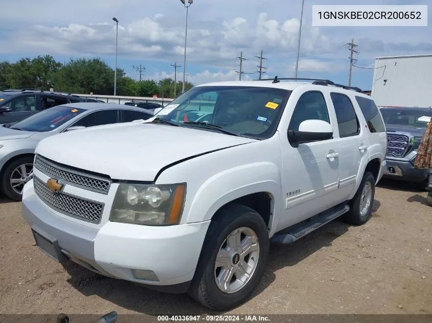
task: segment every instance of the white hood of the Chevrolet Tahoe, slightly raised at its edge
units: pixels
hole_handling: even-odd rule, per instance
[[[127,122],[92,128],[43,139],[36,153],[111,179],[153,181],[157,172],[171,163],[256,141],[154,123]]]

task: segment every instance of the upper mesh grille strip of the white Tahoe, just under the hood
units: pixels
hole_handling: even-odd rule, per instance
[[[109,187],[111,186],[111,180],[109,178],[102,178],[70,169],[56,162],[49,161],[40,155],[36,155],[34,167],[47,176],[61,180],[62,183],[105,195],[108,194]]]

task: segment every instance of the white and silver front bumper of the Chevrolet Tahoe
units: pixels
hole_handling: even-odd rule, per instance
[[[22,215],[32,230],[58,245],[61,258],[98,274],[168,292],[184,292],[195,273],[210,221],[149,227],[107,221],[90,228],[57,216],[39,200],[30,181]],[[137,279],[132,269],[151,270],[156,280]],[[163,288],[166,287],[166,288]]]

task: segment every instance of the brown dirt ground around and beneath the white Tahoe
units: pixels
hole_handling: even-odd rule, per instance
[[[365,226],[333,221],[272,246],[265,276],[237,314],[432,313],[432,208],[426,192],[382,180]],[[0,313],[206,314],[169,295],[65,267],[34,245],[20,204],[0,205]]]

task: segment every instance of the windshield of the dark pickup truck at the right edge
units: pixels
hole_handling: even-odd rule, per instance
[[[432,111],[420,111],[408,109],[381,109],[381,115],[385,125],[413,126],[426,128],[430,122]]]

